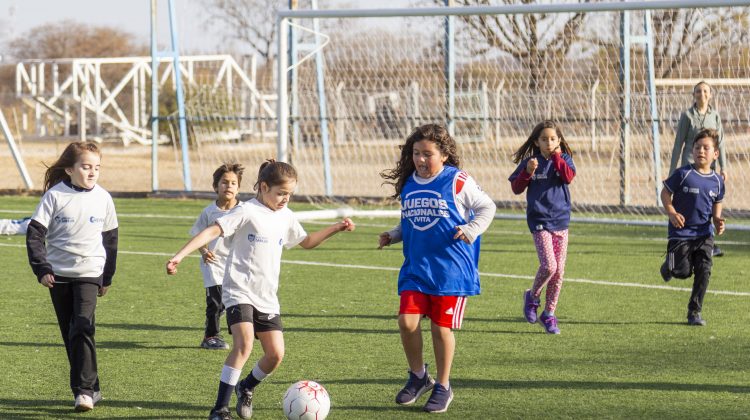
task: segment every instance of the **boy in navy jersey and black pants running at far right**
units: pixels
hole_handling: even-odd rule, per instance
[[[686,279],[695,275],[688,303],[688,324],[706,325],[701,310],[711,277],[714,228],[719,235],[724,233],[721,217],[724,179],[711,169],[719,156],[719,133],[713,129],[698,132],[692,153],[695,163],[678,168],[664,181],[661,192],[664,210],[669,215],[669,243],[661,276],[669,281],[672,277]]]

